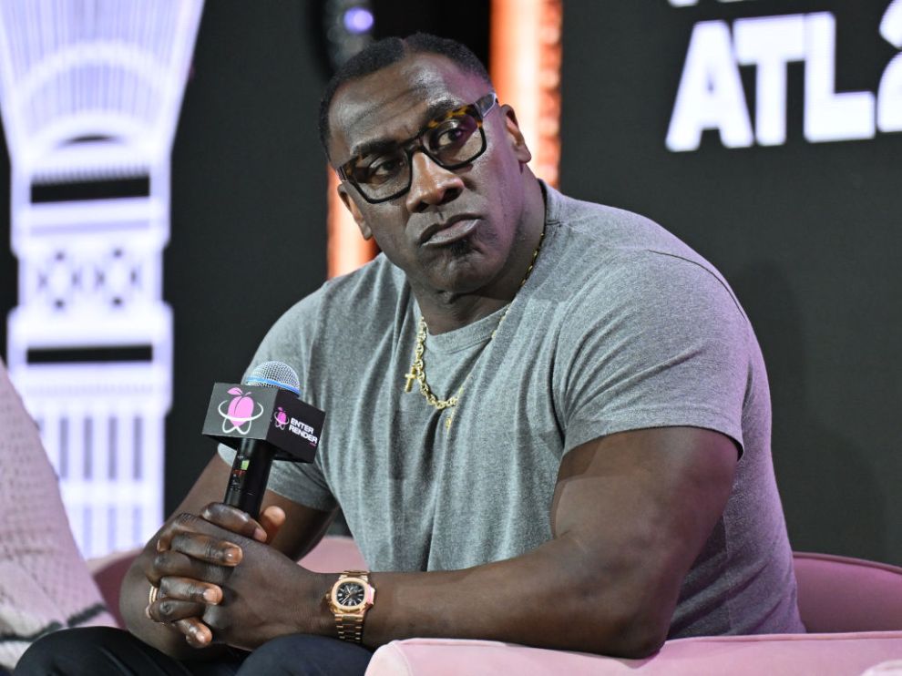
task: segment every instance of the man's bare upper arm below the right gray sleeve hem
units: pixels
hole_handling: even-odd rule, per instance
[[[560,466],[554,537],[575,541],[603,577],[610,573],[610,584],[626,586],[627,598],[651,593],[675,604],[723,513],[737,458],[730,437],[697,427],[634,430],[578,446]]]

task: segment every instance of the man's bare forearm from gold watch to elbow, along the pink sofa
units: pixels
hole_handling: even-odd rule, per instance
[[[364,642],[470,638],[624,657],[657,650],[676,594],[641,589],[641,572],[621,569],[624,559],[587,564],[591,559],[564,537],[477,568],[374,573]]]

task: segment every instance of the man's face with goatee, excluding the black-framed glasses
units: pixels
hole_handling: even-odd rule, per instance
[[[364,145],[405,142],[436,113],[472,104],[489,91],[480,77],[431,54],[408,56],[348,82],[329,112],[333,165],[353,159]],[[415,290],[491,292],[517,247],[529,151],[509,108],[493,108],[483,125],[486,151],[459,169],[443,169],[415,152],[405,195],[370,204],[350,183],[339,188],[364,237],[375,238]]]

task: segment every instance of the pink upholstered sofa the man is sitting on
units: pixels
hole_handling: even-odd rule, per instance
[[[133,553],[93,566],[111,609]],[[799,608],[808,634],[667,641],[645,660],[543,650],[493,640],[394,640],[376,650],[367,676],[480,674],[666,674],[667,676],[860,676],[902,661],[902,568],[857,558],[796,553]],[[325,538],[302,565],[328,572],[365,568],[350,538]],[[885,664],[881,674],[902,674]]]

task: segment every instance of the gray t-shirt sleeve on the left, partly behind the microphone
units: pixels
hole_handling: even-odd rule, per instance
[[[316,342],[317,327],[321,325],[317,321],[321,302],[322,292],[316,292],[285,312],[264,336],[244,374],[245,377],[262,362],[283,362],[298,374],[302,400],[307,404],[322,407],[309,377],[310,355]],[[235,451],[222,444],[219,446],[219,454],[230,465],[235,458]],[[322,511],[333,510],[337,503],[323,475],[322,456],[321,444],[313,463],[274,462],[266,487],[305,507]]]

